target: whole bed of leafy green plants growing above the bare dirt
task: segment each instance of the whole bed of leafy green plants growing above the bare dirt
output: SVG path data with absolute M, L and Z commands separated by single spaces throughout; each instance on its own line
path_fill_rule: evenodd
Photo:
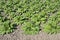
M 60 32 L 60 0 L 0 0 L 0 34 L 16 25 L 25 34 Z

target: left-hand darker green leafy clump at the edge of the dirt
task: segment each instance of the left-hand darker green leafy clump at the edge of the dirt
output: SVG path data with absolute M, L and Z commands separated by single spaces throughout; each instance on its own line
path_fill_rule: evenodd
M 13 32 L 13 30 L 13 24 L 11 24 L 9 20 L 3 20 L 2 17 L 0 17 L 0 34 L 7 34 Z

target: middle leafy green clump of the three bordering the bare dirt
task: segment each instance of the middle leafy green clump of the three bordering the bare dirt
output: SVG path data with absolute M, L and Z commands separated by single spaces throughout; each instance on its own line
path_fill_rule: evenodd
M 33 34 L 34 35 L 39 32 L 39 25 L 34 25 L 31 22 L 25 22 L 22 26 L 23 26 L 22 30 L 24 30 L 25 34 Z

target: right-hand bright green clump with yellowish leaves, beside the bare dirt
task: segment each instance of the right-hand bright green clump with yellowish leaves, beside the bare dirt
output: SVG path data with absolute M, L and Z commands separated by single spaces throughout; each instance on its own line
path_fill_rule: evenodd
M 43 30 L 51 34 L 60 32 L 60 12 L 49 17 L 47 23 L 44 24 Z

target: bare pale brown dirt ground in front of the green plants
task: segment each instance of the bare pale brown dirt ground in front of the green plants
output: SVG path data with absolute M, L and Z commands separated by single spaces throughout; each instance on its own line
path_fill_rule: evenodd
M 23 31 L 18 26 L 17 30 L 15 30 L 13 33 L 0 35 L 0 40 L 60 40 L 60 33 L 50 35 L 40 32 L 36 35 L 25 35 L 22 32 Z

